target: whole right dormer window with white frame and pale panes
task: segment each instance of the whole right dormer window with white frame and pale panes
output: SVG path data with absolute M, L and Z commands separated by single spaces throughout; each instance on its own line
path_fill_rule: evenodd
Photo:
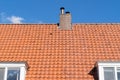
M 98 62 L 99 80 L 120 80 L 120 62 Z

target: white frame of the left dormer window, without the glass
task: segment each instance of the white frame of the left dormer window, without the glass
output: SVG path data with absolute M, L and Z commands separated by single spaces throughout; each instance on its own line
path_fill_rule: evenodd
M 25 62 L 0 62 L 0 68 L 5 69 L 4 80 L 7 80 L 8 68 L 20 68 L 20 80 L 25 80 L 27 64 Z

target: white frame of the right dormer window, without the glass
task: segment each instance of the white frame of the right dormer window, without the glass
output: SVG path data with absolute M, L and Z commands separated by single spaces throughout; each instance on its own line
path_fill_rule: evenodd
M 97 62 L 99 80 L 104 80 L 104 67 L 113 67 L 115 69 L 115 79 L 117 80 L 117 68 L 120 68 L 120 62 Z

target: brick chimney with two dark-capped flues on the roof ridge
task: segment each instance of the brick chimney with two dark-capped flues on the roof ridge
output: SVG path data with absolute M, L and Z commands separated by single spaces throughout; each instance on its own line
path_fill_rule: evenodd
M 64 7 L 61 7 L 60 10 L 61 10 L 61 14 L 60 14 L 59 28 L 61 30 L 71 30 L 72 29 L 72 23 L 71 23 L 70 12 L 64 13 Z

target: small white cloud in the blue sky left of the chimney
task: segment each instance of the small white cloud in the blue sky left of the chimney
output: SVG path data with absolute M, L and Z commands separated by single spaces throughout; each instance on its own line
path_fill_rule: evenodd
M 24 18 L 19 16 L 11 16 L 11 17 L 7 17 L 6 19 L 13 24 L 21 24 L 23 23 L 22 21 L 24 20 Z

